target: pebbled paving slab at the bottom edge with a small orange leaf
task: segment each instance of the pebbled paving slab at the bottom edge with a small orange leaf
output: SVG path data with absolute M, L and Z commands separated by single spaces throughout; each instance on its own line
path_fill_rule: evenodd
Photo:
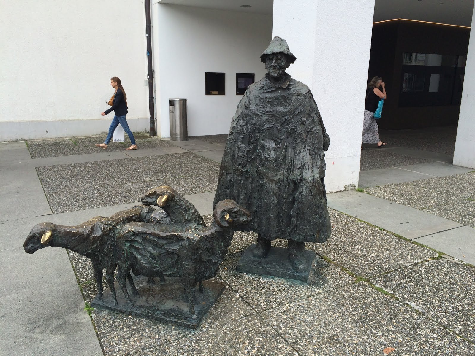
M 470 355 L 473 345 L 366 283 L 261 313 L 298 355 Z

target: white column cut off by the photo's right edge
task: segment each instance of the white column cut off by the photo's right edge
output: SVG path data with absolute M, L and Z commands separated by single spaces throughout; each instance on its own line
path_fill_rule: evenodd
M 475 11 L 472 25 L 475 24 Z M 475 168 L 475 31 L 470 31 L 462 103 L 458 115 L 454 164 Z

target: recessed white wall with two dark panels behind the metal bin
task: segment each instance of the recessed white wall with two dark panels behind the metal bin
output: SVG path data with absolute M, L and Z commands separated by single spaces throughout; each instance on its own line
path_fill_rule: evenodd
M 159 135 L 170 137 L 173 97 L 188 99 L 189 136 L 228 133 L 242 98 L 236 73 L 255 73 L 256 81 L 266 74 L 260 55 L 271 40 L 272 16 L 155 3 L 153 18 Z M 205 95 L 205 72 L 226 73 L 226 95 Z

